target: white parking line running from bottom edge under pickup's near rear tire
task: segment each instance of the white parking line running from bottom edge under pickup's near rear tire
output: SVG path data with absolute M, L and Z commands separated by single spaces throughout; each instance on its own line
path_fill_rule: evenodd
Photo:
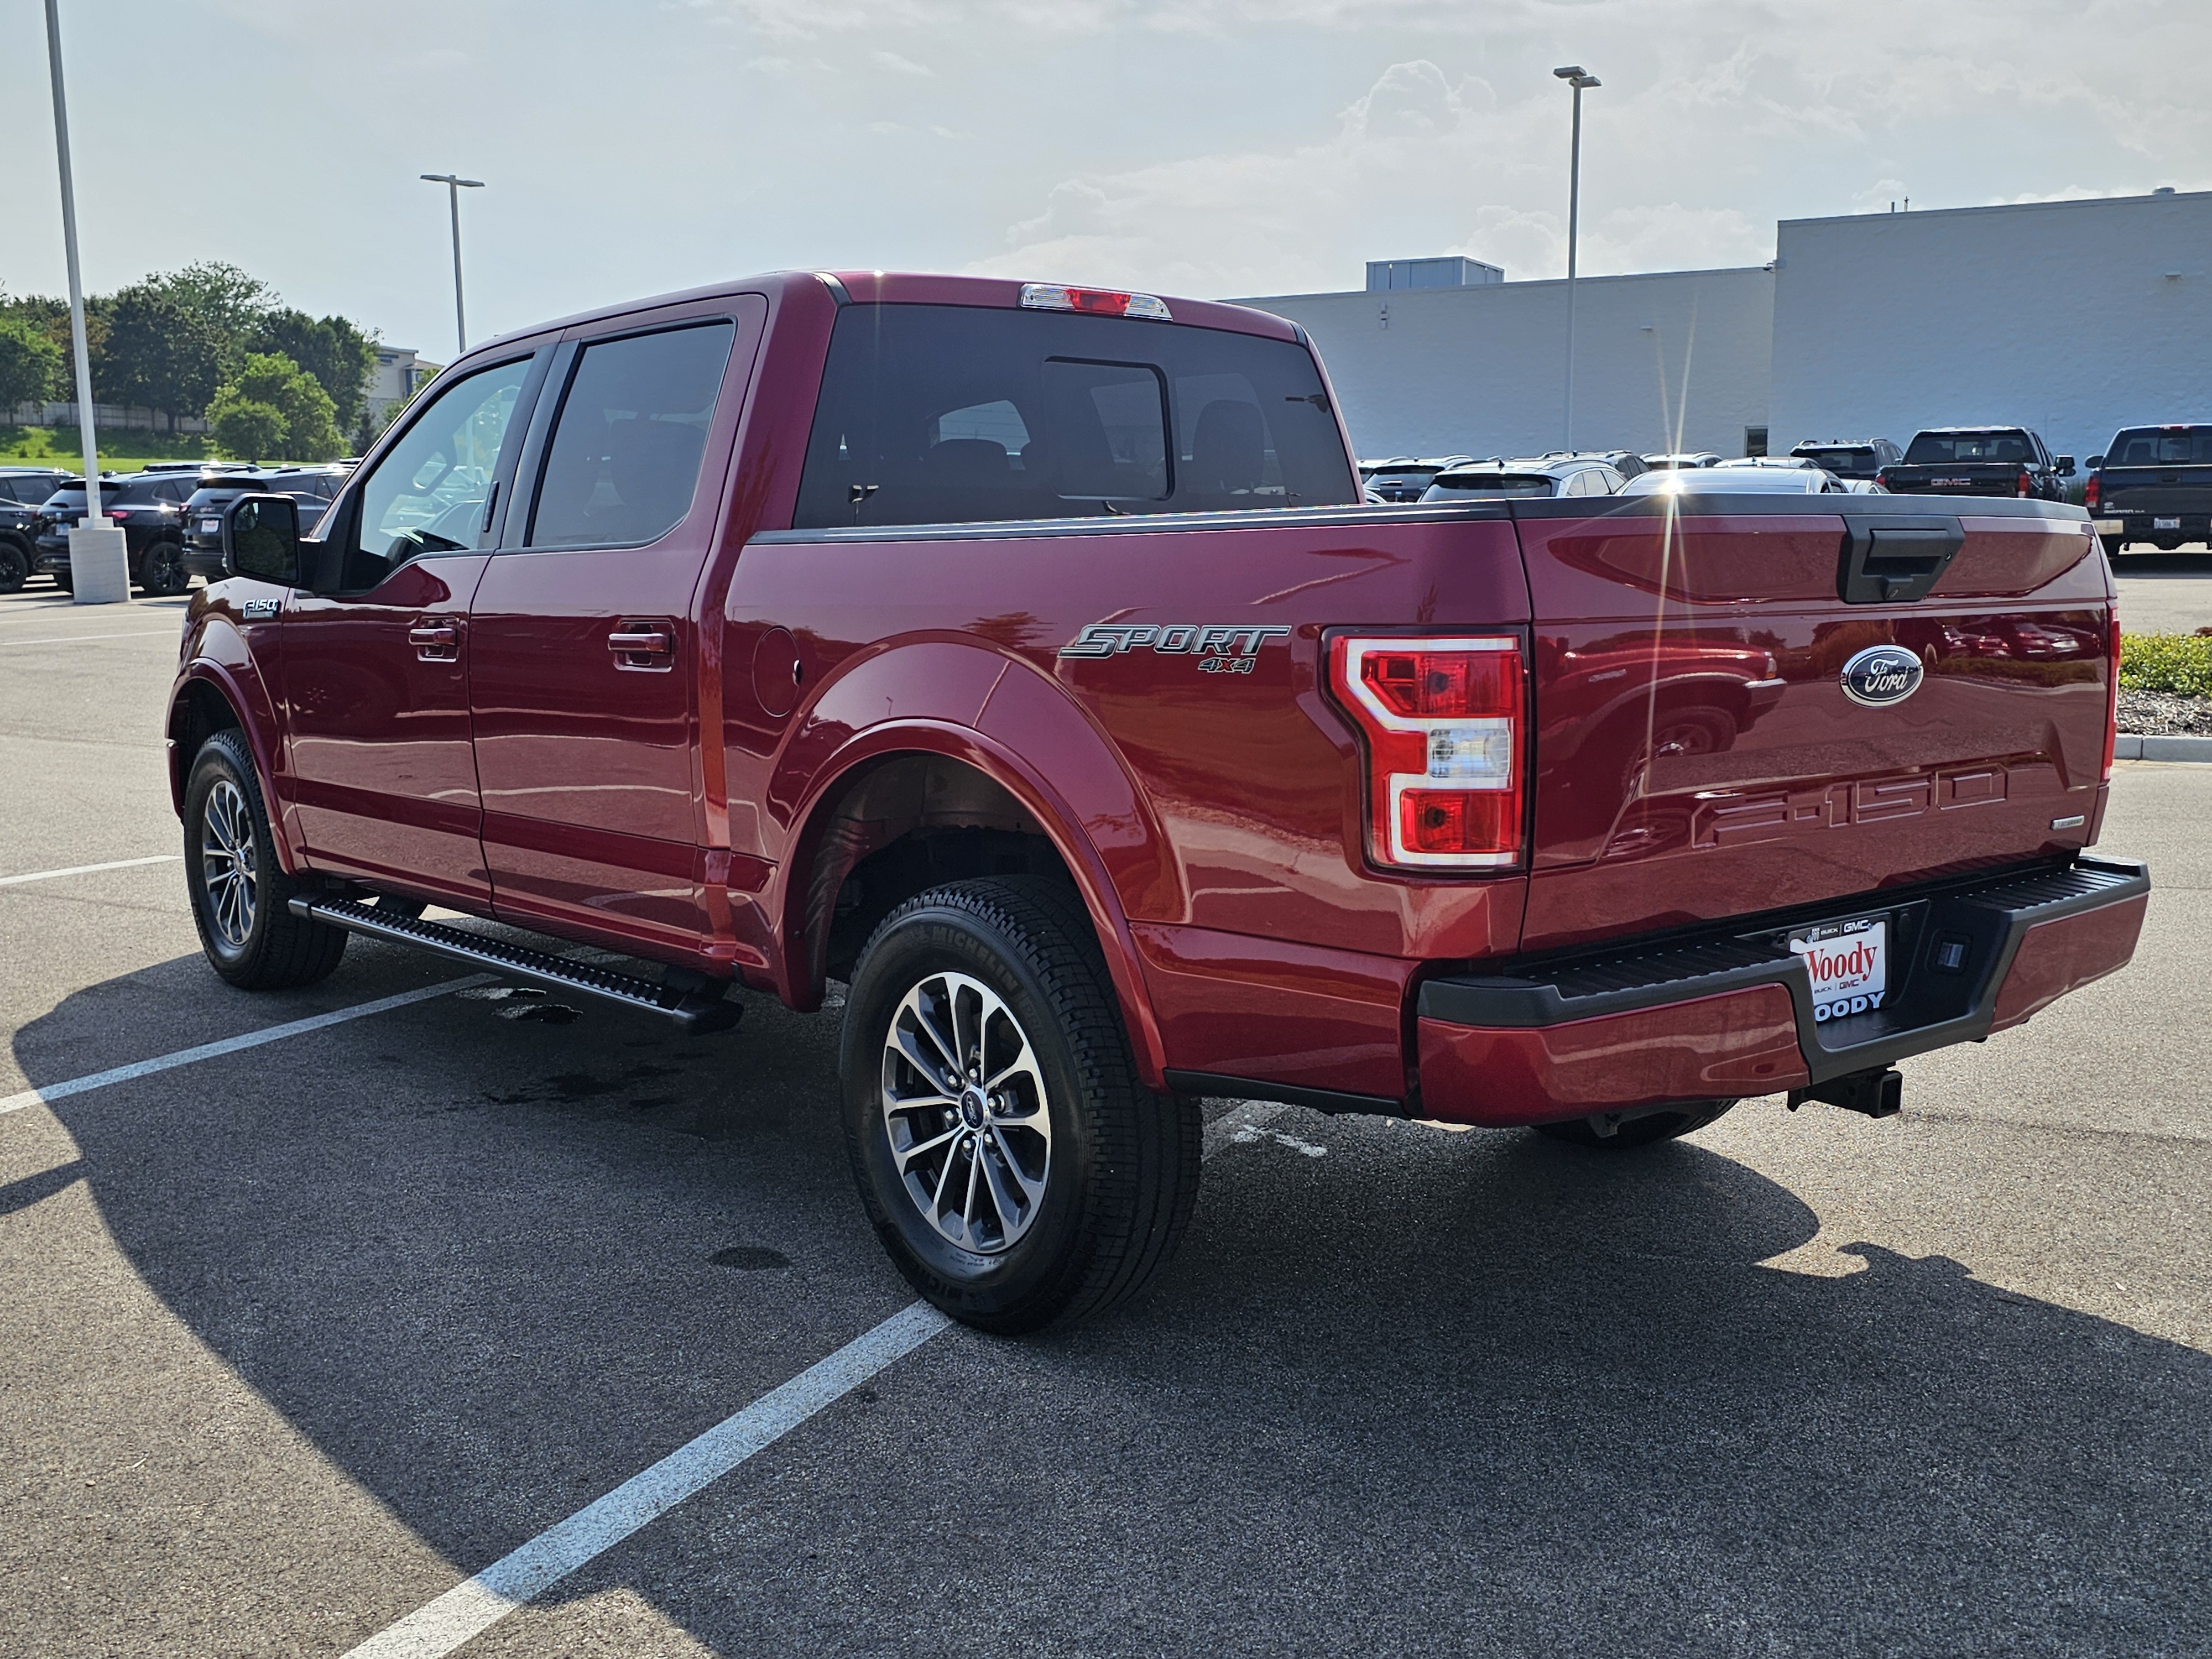
M 1223 1146 L 1239 1146 L 1239 1133 L 1256 1130 L 1285 1108 L 1276 1102 L 1252 1102 L 1206 1126 L 1206 1150 L 1212 1157 Z M 595 1555 L 613 1548 L 637 1528 L 659 1520 L 686 1498 L 712 1486 L 745 1458 L 787 1436 L 823 1407 L 834 1405 L 876 1371 L 902 1360 L 953 1323 L 929 1303 L 907 1303 L 876 1329 L 845 1343 L 836 1354 L 790 1383 L 770 1389 L 743 1411 L 723 1418 L 639 1475 L 630 1475 L 606 1498 L 586 1504 L 522 1548 L 502 1555 L 471 1579 L 462 1579 L 398 1624 L 385 1626 L 345 1659 L 445 1659 L 465 1641 L 473 1641 L 533 1595 L 575 1573 Z

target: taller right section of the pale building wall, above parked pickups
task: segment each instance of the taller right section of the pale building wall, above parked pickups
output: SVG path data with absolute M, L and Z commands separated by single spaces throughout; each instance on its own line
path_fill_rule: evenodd
M 1785 219 L 1776 453 L 2026 425 L 2077 460 L 2212 420 L 2212 192 Z

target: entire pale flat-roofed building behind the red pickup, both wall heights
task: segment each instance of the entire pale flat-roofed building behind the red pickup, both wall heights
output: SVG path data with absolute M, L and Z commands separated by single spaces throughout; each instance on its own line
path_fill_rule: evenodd
M 1770 265 L 1575 283 L 1573 447 L 1785 453 L 2026 425 L 2086 458 L 2212 420 L 2212 192 L 1785 219 Z M 1568 442 L 1564 281 L 1391 259 L 1245 305 L 1314 336 L 1363 456 Z

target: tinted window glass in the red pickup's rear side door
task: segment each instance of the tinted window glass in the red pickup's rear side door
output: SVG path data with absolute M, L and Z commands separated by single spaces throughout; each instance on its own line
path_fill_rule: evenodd
M 690 511 L 732 323 L 586 345 L 562 398 L 529 546 L 644 546 Z

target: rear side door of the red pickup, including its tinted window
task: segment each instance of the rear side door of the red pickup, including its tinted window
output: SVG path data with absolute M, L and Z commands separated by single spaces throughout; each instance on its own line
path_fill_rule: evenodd
M 469 613 L 500 916 L 677 949 L 710 931 L 695 593 L 765 316 L 719 299 L 557 352 Z

